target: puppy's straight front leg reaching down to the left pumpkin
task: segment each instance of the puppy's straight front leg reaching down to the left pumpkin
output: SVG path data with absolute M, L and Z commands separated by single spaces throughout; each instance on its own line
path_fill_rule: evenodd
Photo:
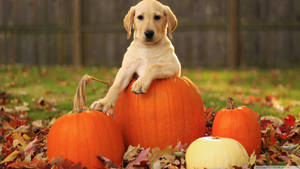
M 112 114 L 112 112 L 108 111 L 115 106 L 115 102 L 118 98 L 119 93 L 128 86 L 133 74 L 134 69 L 132 68 L 120 68 L 116 75 L 114 83 L 110 87 L 106 96 L 91 104 L 90 109 L 101 110 L 107 114 Z

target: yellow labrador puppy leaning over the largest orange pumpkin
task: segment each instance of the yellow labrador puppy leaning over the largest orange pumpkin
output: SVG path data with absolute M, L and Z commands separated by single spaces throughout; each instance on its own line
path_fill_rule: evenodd
M 131 7 L 124 18 L 127 39 L 131 37 L 132 26 L 133 41 L 114 83 L 104 98 L 90 106 L 91 109 L 111 114 L 119 93 L 128 86 L 134 74 L 138 75 L 138 79 L 131 90 L 136 94 L 146 93 L 154 79 L 180 76 L 181 66 L 169 40 L 177 26 L 177 19 L 170 8 L 156 0 L 142 0 Z

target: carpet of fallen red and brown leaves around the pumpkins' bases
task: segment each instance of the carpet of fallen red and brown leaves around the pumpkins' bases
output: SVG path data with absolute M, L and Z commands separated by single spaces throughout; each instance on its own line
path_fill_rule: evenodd
M 9 100 L 9 99 L 8 99 Z M 211 133 L 213 114 L 209 111 L 207 135 Z M 1 168 L 84 168 L 80 163 L 72 163 L 66 159 L 57 158 L 50 163 L 47 158 L 47 134 L 55 119 L 34 120 L 28 117 L 26 111 L 0 111 L 0 167 Z M 300 165 L 300 121 L 288 115 L 284 119 L 274 116 L 260 118 L 262 134 L 262 151 L 258 156 L 252 156 L 249 164 L 253 165 Z M 142 168 L 169 168 L 184 169 L 185 151 L 187 145 L 178 144 L 175 147 L 149 149 L 147 147 L 128 147 L 124 154 L 123 167 L 133 169 Z M 108 159 L 99 156 L 108 168 L 121 168 Z

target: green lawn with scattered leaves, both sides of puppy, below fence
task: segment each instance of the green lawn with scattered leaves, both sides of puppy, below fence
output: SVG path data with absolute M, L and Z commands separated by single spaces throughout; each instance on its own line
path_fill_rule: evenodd
M 2 66 L 0 92 L 10 94 L 2 106 L 15 108 L 26 102 L 32 119 L 58 117 L 72 109 L 73 95 L 82 75 L 87 73 L 112 82 L 116 72 L 116 68 L 103 67 Z M 199 87 L 205 107 L 214 111 L 225 107 L 226 97 L 232 96 L 239 105 L 247 105 L 261 115 L 292 114 L 300 118 L 300 69 L 184 69 L 182 75 Z M 103 97 L 106 91 L 106 85 L 92 83 L 87 88 L 88 104 Z M 46 106 L 39 106 L 41 100 Z

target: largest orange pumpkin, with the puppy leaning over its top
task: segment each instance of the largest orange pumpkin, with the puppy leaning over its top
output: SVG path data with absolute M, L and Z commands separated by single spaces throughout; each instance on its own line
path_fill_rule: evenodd
M 145 94 L 132 93 L 133 83 L 119 95 L 115 106 L 126 146 L 164 148 L 204 136 L 202 99 L 189 79 L 154 80 Z

